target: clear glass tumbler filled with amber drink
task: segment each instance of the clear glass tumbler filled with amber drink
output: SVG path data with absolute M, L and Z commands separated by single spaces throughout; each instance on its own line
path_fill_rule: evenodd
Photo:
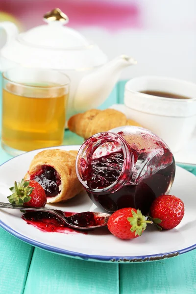
M 68 77 L 57 71 L 14 68 L 3 73 L 2 147 L 17 155 L 63 142 Z

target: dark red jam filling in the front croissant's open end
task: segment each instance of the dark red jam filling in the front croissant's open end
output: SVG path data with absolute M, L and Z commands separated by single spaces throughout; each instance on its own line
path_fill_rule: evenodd
M 37 172 L 31 174 L 31 180 L 38 182 L 45 190 L 47 197 L 57 196 L 61 191 L 61 179 L 58 172 L 51 166 L 43 165 Z

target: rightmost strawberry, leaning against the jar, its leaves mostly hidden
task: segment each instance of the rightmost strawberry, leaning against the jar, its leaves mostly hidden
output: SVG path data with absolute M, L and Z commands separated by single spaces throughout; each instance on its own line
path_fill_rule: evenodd
M 180 198 L 161 195 L 152 202 L 148 220 L 153 221 L 159 229 L 170 230 L 182 221 L 183 216 L 184 203 Z

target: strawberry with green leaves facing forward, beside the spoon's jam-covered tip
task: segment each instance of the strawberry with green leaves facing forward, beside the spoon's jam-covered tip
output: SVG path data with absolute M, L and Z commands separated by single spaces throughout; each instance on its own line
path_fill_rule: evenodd
M 107 222 L 109 231 L 124 240 L 134 239 L 142 235 L 147 227 L 145 216 L 135 208 L 122 208 L 114 212 Z

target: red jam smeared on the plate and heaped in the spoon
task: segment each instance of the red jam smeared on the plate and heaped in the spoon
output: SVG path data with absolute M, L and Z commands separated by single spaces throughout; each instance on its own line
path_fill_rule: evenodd
M 104 223 L 104 217 L 96 217 L 92 212 L 83 212 L 79 215 L 75 215 L 73 212 L 63 212 L 61 210 L 56 210 L 61 213 L 63 216 L 72 218 L 69 219 L 70 223 L 74 225 L 78 225 L 81 227 L 85 226 L 95 226 Z M 56 217 L 53 214 L 47 212 L 26 212 L 22 216 L 23 220 L 27 222 L 27 224 L 31 224 L 41 231 L 44 232 L 57 232 L 57 233 L 74 233 L 79 232 L 78 229 L 72 229 L 67 226 L 62 220 Z M 81 231 L 81 230 L 80 230 Z

